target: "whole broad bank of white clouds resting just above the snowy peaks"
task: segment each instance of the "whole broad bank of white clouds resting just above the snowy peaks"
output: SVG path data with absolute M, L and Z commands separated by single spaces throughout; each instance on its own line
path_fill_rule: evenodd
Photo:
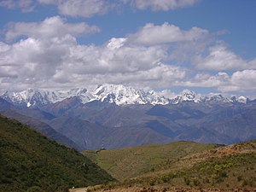
M 98 31 L 96 26 L 68 23 L 60 16 L 9 25 L 6 39 L 18 40 L 0 42 L 1 88 L 61 89 L 112 83 L 150 88 L 208 87 L 223 92 L 256 90 L 256 59 L 243 60 L 207 30 L 146 24 L 105 44 L 78 43 L 80 35 Z

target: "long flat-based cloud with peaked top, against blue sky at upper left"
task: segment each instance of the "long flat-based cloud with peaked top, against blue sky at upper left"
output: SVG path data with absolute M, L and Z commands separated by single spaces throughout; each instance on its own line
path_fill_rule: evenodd
M 70 34 L 74 37 L 78 35 L 99 32 L 97 26 L 89 26 L 84 22 L 67 23 L 60 16 L 46 18 L 42 22 L 18 22 L 10 23 L 5 33 L 7 40 L 11 40 L 22 35 L 32 38 L 55 38 L 64 37 Z

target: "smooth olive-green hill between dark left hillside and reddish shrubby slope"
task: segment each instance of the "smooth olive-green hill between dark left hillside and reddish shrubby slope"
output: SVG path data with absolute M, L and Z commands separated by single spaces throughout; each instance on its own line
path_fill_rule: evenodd
M 177 142 L 167 145 L 151 144 L 135 148 L 84 151 L 87 157 L 120 181 L 141 176 L 159 170 L 161 164 L 176 161 L 188 154 L 194 154 L 210 148 L 215 144 Z

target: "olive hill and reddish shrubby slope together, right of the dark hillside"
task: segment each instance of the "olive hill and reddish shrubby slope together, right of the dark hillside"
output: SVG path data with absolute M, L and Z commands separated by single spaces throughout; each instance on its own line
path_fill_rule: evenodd
M 121 183 L 112 187 L 256 187 L 256 140 L 229 146 L 178 142 L 84 154 L 113 177 L 121 178 Z

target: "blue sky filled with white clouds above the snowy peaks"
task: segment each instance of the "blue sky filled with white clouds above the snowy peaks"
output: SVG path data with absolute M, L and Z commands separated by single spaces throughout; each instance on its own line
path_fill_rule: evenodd
M 255 0 L 0 0 L 0 91 L 96 84 L 256 98 Z

